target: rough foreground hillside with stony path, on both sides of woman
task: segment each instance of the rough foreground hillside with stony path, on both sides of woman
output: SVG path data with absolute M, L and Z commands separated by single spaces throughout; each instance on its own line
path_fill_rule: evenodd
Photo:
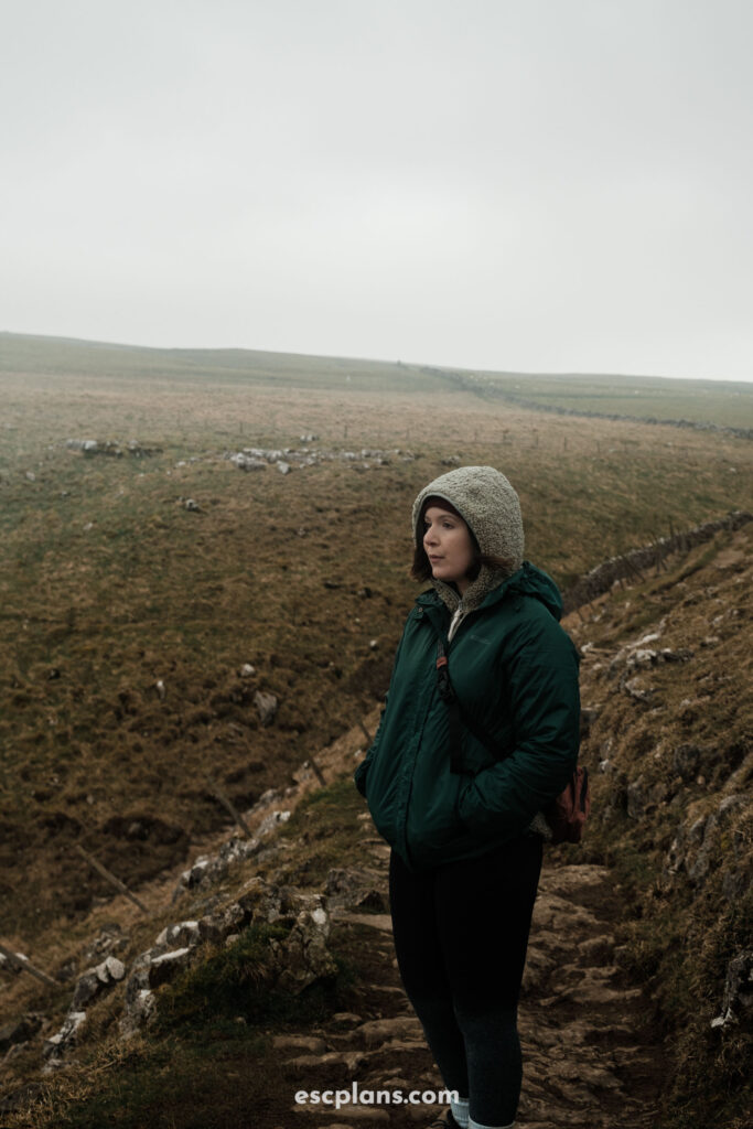
M 548 857 L 523 1009 L 520 1129 L 746 1124 L 752 540 L 751 524 L 720 531 L 657 575 L 618 583 L 568 622 L 584 654 L 594 816 L 581 848 Z M 80 978 L 93 952 L 102 954 L 94 943 L 108 924 L 108 951 L 133 982 L 137 957 L 170 921 L 227 926 L 186 947 L 186 972 L 155 982 L 154 1018 L 125 1042 L 128 989 L 111 986 L 87 1012 L 65 1068 L 32 1091 L 30 1109 L 23 1087 L 38 1086 L 42 1041 L 60 1030 L 71 981 L 53 990 L 0 971 L 3 1010 L 27 1031 L 2 1064 L 17 1095 L 3 1129 L 417 1123 L 415 1110 L 397 1108 L 292 1113 L 298 1088 L 438 1085 L 395 979 L 385 849 L 364 833 L 368 815 L 349 779 L 358 741 L 353 730 L 322 754 L 326 788 L 304 768 L 295 788 L 266 797 L 253 815 L 256 846 L 226 849 L 233 865 L 193 891 L 184 883 L 174 907 L 176 872 L 145 893 L 146 918 L 115 899 L 63 944 L 41 942 L 38 963 Z M 262 834 L 261 820 L 307 791 L 287 822 L 273 817 Z M 254 916 L 262 889 L 278 891 L 282 909 L 265 919 L 278 933 Z M 315 905 L 329 918 L 335 963 L 322 956 L 291 996 L 300 963 L 283 903 L 303 912 L 307 898 L 309 912 Z M 287 972 L 274 964 L 281 952 Z M 284 998 L 275 995 L 281 982 Z M 430 1114 L 422 1111 L 426 1121 Z

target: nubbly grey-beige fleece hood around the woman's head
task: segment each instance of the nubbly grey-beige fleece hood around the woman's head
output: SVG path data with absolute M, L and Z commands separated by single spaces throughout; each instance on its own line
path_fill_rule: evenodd
M 419 520 L 427 498 L 448 501 L 472 531 L 481 552 L 506 561 L 505 567 L 482 564 L 479 576 L 466 588 L 463 606 L 466 610 L 478 607 L 492 588 L 523 564 L 523 518 L 518 496 L 505 475 L 493 466 L 458 466 L 440 474 L 421 490 L 413 502 L 417 545 L 422 540 Z M 459 596 L 453 587 L 441 580 L 431 583 L 450 610 L 457 607 Z

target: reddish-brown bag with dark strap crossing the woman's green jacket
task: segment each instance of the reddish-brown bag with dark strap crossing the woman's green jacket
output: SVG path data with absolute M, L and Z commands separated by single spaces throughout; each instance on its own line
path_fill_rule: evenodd
M 441 639 L 437 642 L 437 686 L 439 697 L 448 709 L 450 772 L 463 771 L 462 726 L 470 729 L 476 741 L 480 741 L 496 758 L 500 758 L 500 753 L 502 759 L 509 755 L 472 718 L 463 716 L 461 703 L 449 681 L 449 666 Z M 584 764 L 578 764 L 560 795 L 544 811 L 544 817 L 552 832 L 552 843 L 579 843 L 589 814 L 588 769 Z

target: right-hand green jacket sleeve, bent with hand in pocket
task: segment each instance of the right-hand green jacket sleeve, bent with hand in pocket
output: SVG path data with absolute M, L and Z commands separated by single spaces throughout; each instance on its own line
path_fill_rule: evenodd
M 519 629 L 508 667 L 514 747 L 463 788 L 459 814 L 481 839 L 510 839 L 562 791 L 578 759 L 578 653 L 555 620 Z

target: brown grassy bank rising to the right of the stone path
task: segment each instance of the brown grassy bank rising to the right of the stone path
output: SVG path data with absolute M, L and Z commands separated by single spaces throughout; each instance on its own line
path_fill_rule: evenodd
M 669 1035 L 677 1127 L 750 1112 L 752 544 L 751 524 L 720 533 L 569 621 L 595 777 L 585 856 L 615 877 L 620 960 Z

